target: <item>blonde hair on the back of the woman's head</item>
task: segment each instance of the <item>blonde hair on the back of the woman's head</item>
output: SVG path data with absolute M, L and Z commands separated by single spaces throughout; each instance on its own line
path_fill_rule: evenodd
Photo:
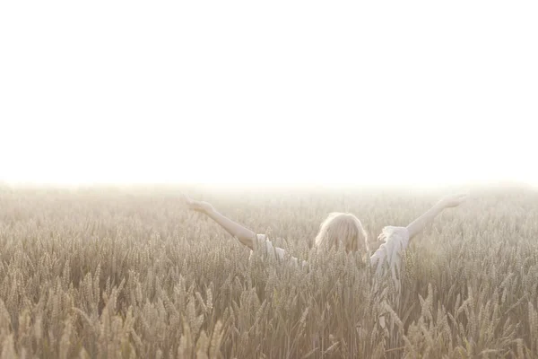
M 318 250 L 330 250 L 333 247 L 338 249 L 340 245 L 346 251 L 369 250 L 368 236 L 359 218 L 349 213 L 334 212 L 319 226 L 316 246 Z

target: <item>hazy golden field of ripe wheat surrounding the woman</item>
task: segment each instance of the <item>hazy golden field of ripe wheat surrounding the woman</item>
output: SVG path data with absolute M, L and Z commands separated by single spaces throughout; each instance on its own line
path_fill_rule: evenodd
M 249 258 L 177 188 L 0 187 L 0 357 L 538 357 L 538 193 L 478 188 L 439 215 L 399 300 L 362 258 L 310 250 L 329 212 L 376 237 L 446 193 L 189 189 L 297 268 Z

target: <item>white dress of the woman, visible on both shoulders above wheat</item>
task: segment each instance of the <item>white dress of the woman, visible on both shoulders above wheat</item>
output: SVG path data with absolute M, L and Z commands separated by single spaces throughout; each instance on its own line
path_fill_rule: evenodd
M 387 226 L 383 228 L 380 237 L 385 239 L 385 243 L 381 244 L 374 254 L 372 254 L 370 265 L 375 268 L 377 276 L 383 276 L 386 273 L 385 269 L 389 269 L 395 281 L 396 289 L 399 291 L 402 252 L 409 244 L 409 232 L 405 227 Z M 265 234 L 256 234 L 254 248 L 255 250 L 261 250 L 264 255 L 280 261 L 286 258 L 286 251 L 282 250 L 282 248 L 274 247 L 273 243 L 266 238 Z M 290 259 L 294 264 L 299 265 L 298 258 L 290 257 Z M 303 266 L 307 264 L 307 261 L 302 261 Z

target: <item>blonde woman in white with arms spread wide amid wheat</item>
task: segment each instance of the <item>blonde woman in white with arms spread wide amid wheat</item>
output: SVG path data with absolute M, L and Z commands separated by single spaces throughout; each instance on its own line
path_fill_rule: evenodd
M 396 289 L 400 289 L 400 264 L 402 262 L 402 252 L 407 248 L 412 238 L 423 231 L 424 227 L 433 221 L 444 209 L 459 206 L 467 198 L 466 195 L 447 196 L 442 198 L 429 211 L 421 215 L 406 227 L 388 226 L 383 229 L 378 237 L 378 241 L 383 244 L 369 257 L 369 263 L 376 269 L 378 276 L 386 273 L 388 268 L 391 276 L 395 280 Z M 231 221 L 221 215 L 211 204 L 202 201 L 195 201 L 184 196 L 187 206 L 194 211 L 201 212 L 209 216 L 222 228 L 237 238 L 250 250 L 264 250 L 274 258 L 283 260 L 285 250 L 274 247 L 265 234 L 256 234 L 239 223 Z M 369 251 L 368 237 L 362 223 L 355 216 L 349 213 L 332 213 L 328 215 L 319 228 L 316 236 L 317 250 L 333 250 L 343 246 L 347 252 L 358 251 L 366 254 Z M 299 260 L 291 257 L 291 260 L 298 263 Z M 307 262 L 303 261 L 303 265 Z

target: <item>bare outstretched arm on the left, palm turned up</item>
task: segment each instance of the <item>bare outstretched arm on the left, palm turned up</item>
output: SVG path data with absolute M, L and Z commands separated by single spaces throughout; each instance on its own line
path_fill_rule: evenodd
M 233 237 L 237 238 L 242 244 L 246 245 L 251 250 L 254 249 L 254 239 L 256 233 L 252 232 L 248 228 L 245 228 L 239 223 L 235 223 L 230 218 L 221 215 L 211 204 L 202 201 L 195 201 L 194 199 L 183 195 L 183 199 L 187 206 L 193 211 L 203 213 L 207 215 L 216 223 L 219 223 L 222 228 L 229 232 Z

